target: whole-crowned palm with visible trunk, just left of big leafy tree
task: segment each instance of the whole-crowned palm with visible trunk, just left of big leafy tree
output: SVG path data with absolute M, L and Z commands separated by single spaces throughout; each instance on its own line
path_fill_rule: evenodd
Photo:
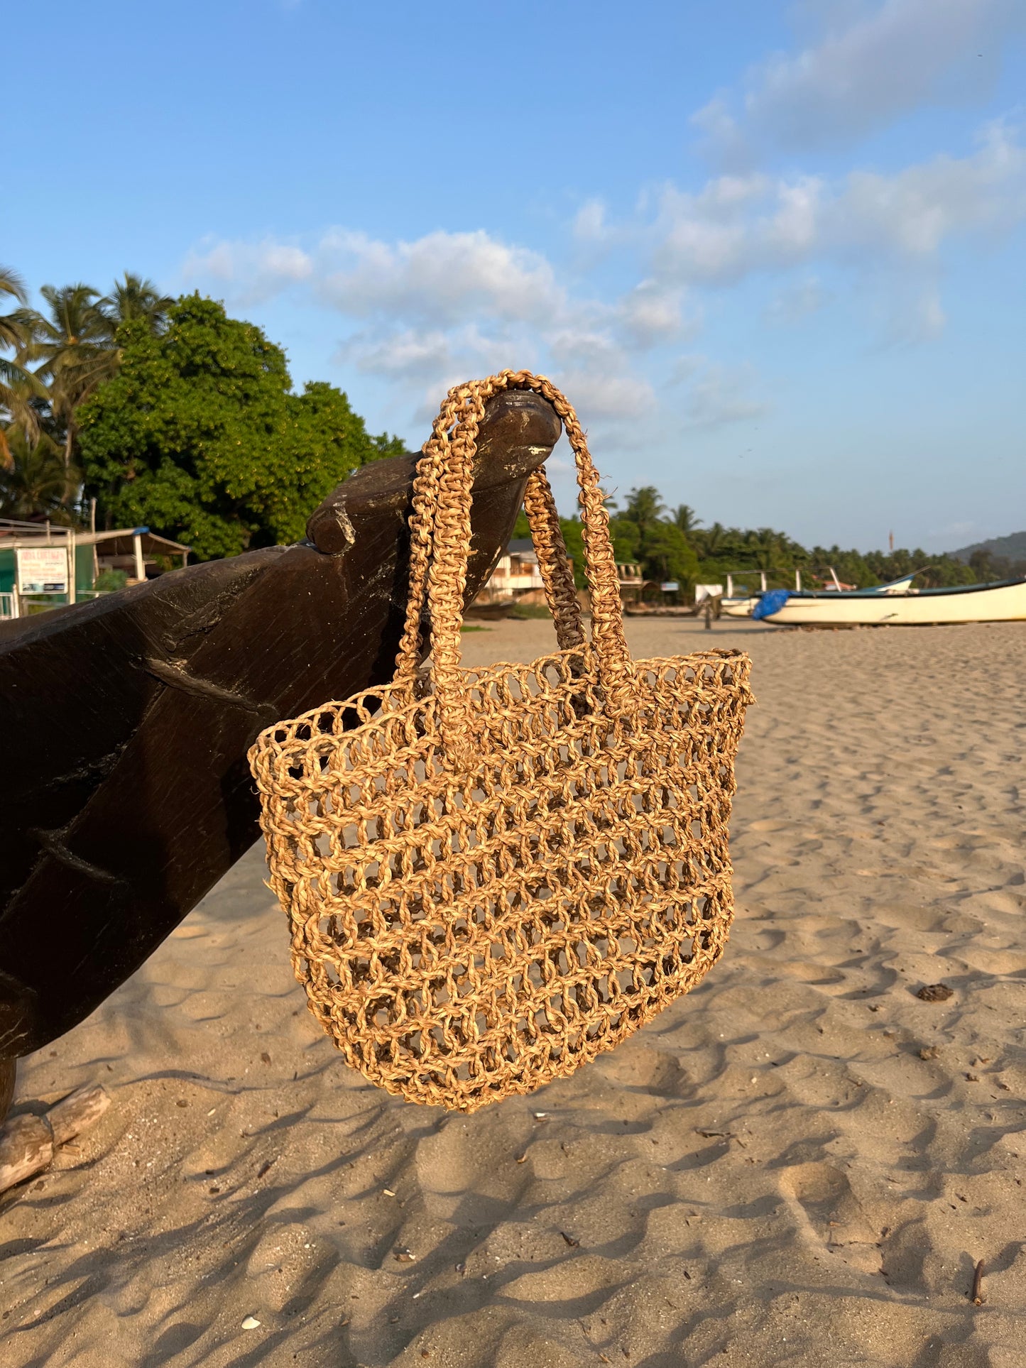
M 64 465 L 71 469 L 78 425 L 75 409 L 118 369 L 111 321 L 89 285 L 44 285 L 49 315 L 37 315 L 26 357 L 41 361 L 36 375 L 49 382 L 49 405 L 64 432 Z

